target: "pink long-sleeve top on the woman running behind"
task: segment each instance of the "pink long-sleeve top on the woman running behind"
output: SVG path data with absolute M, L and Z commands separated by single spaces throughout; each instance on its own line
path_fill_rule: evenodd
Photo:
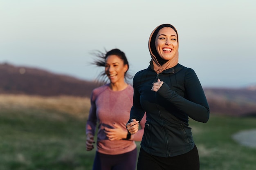
M 97 124 L 97 151 L 108 155 L 118 155 L 130 152 L 136 148 L 135 141 L 141 141 L 146 122 L 146 114 L 140 121 L 140 130 L 131 135 L 130 140 L 110 141 L 104 133 L 104 128 L 114 128 L 117 124 L 126 130 L 126 123 L 130 118 L 133 103 L 133 88 L 122 91 L 112 91 L 108 84 L 95 88 L 91 95 L 91 108 L 86 124 L 86 134 L 95 135 Z

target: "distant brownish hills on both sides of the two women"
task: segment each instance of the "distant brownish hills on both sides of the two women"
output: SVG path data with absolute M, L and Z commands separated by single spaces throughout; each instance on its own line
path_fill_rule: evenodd
M 96 82 L 54 74 L 38 68 L 0 64 L 0 94 L 90 97 Z M 204 88 L 211 114 L 256 116 L 256 86 Z

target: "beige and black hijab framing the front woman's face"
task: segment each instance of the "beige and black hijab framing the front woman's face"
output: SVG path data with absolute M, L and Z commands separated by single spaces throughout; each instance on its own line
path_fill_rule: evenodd
M 178 64 L 178 60 L 179 60 L 179 51 L 178 51 L 178 49 L 179 49 L 179 39 L 177 38 L 178 46 L 177 46 L 177 49 L 175 49 L 171 59 L 168 60 L 166 63 L 164 63 L 162 66 L 157 61 L 157 57 L 155 55 L 159 55 L 159 54 L 157 53 L 157 51 L 155 49 L 155 45 L 154 45 L 155 44 L 155 38 L 156 38 L 156 35 L 159 32 L 159 30 L 164 28 L 164 27 L 171 27 L 177 33 L 177 30 L 175 29 L 175 27 L 173 25 L 171 25 L 171 24 L 161 24 L 161 25 L 157 26 L 152 31 L 152 33 L 150 34 L 149 40 L 148 40 L 148 49 L 149 49 L 149 52 L 150 52 L 150 55 L 151 55 L 151 58 L 152 58 L 153 69 L 154 69 L 155 72 L 157 72 L 157 74 L 162 73 L 164 70 L 166 70 L 168 68 L 172 68 L 172 67 L 176 66 Z M 178 33 L 177 33 L 177 36 L 178 36 Z M 151 45 L 150 45 L 150 42 L 151 42 Z M 151 49 L 151 48 L 154 48 L 154 49 Z

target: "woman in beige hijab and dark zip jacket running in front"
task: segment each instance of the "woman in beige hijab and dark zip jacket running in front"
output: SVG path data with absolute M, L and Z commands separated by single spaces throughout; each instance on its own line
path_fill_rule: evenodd
M 150 66 L 133 78 L 133 106 L 126 124 L 135 134 L 146 111 L 137 170 L 199 170 L 189 117 L 206 123 L 209 106 L 194 70 L 178 63 L 175 27 L 162 24 L 151 33 Z

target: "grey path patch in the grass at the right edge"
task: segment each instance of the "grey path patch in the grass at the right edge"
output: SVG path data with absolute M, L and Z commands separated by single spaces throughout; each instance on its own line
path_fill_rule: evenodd
M 241 145 L 256 148 L 256 129 L 243 130 L 234 134 L 232 137 Z

